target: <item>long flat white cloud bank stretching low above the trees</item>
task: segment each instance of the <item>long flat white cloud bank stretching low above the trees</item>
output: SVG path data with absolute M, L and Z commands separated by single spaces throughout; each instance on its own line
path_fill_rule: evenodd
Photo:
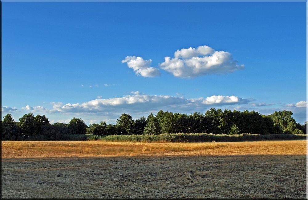
M 115 113 L 140 113 L 149 111 L 172 110 L 173 112 L 194 112 L 205 111 L 210 106 L 224 106 L 247 104 L 252 99 L 243 99 L 237 96 L 211 96 L 207 98 L 174 97 L 168 95 L 147 95 L 140 94 L 138 91 L 133 95 L 127 95 L 119 98 L 94 99 L 84 103 L 52 102 L 53 109 L 46 109 L 43 106 L 31 107 L 35 111 L 49 113 L 104 113 L 115 115 Z M 27 106 L 26 106 L 27 107 Z

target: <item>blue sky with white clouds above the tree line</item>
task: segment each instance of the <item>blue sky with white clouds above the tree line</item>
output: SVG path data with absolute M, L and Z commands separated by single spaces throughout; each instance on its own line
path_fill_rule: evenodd
M 2 3 L 2 116 L 16 121 L 215 107 L 303 124 L 303 101 L 306 2 Z

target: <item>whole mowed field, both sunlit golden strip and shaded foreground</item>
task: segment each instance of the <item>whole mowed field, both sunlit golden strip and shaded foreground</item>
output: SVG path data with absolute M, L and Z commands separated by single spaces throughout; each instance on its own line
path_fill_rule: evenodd
M 306 198 L 306 140 L 2 141 L 2 198 Z

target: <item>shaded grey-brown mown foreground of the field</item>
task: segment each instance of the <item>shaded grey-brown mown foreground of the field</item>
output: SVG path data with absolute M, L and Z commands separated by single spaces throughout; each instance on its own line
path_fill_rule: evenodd
M 305 198 L 306 155 L 2 159 L 3 198 Z

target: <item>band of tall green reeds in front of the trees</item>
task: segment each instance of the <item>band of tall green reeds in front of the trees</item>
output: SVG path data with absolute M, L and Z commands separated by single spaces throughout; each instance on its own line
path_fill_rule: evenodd
M 56 140 L 64 141 L 85 141 L 85 140 L 100 140 L 108 142 L 239 142 L 239 141 L 254 141 L 254 140 L 277 140 L 277 139 L 304 139 L 306 135 L 295 134 L 207 134 L 207 133 L 174 133 L 174 134 L 159 134 L 159 135 L 62 135 Z M 30 141 L 48 141 L 43 135 L 34 135 L 29 138 L 18 138 L 17 140 Z

